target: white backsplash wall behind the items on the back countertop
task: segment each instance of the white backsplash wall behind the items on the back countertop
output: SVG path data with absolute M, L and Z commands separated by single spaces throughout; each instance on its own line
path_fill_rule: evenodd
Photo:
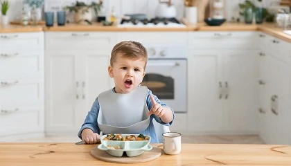
M 85 3 L 91 3 L 94 0 L 78 0 Z M 120 17 L 127 13 L 145 13 L 148 17 L 155 17 L 155 8 L 157 7 L 159 0 L 103 0 L 105 6 L 106 15 L 109 16 L 112 8 L 117 17 Z M 184 1 L 172 0 L 177 10 L 177 19 L 184 17 Z M 238 17 L 238 3 L 242 3 L 245 0 L 226 0 L 227 1 L 227 20 L 231 20 L 231 17 Z M 252 0 L 257 1 L 257 0 Z M 76 0 L 45 0 L 44 10 L 61 10 L 62 7 L 71 5 Z M 274 3 L 279 3 L 280 0 L 263 0 L 264 6 L 270 6 Z M 19 19 L 22 10 L 22 0 L 10 1 L 11 7 L 8 10 L 10 20 Z

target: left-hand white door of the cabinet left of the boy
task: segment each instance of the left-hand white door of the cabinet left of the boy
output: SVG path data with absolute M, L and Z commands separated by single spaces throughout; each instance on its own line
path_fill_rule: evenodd
M 46 133 L 77 131 L 76 100 L 80 98 L 78 55 L 46 53 Z

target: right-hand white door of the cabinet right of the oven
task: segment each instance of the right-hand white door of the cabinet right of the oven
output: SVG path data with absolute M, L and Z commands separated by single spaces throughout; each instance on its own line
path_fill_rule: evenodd
M 256 51 L 224 51 L 223 77 L 226 88 L 226 108 L 229 115 L 229 129 L 236 132 L 258 131 L 256 111 Z

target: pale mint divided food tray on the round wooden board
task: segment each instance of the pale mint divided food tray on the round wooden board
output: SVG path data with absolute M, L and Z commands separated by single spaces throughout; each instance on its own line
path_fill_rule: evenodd
M 121 134 L 121 136 L 131 136 L 134 135 L 136 137 L 139 136 L 139 134 Z M 101 144 L 98 145 L 98 149 L 106 151 L 107 154 L 110 154 L 112 156 L 121 157 L 123 156 L 123 153 L 128 157 L 134 157 L 139 156 L 143 154 L 144 151 L 150 151 L 152 149 L 152 146 L 150 145 L 150 139 L 149 140 L 104 140 L 107 135 L 104 135 L 100 138 Z M 150 136 L 148 136 L 150 138 Z M 118 147 L 120 149 L 115 149 L 114 147 Z

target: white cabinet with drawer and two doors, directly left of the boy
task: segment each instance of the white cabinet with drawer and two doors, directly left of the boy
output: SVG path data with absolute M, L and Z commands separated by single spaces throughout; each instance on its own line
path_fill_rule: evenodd
M 98 94 L 113 87 L 107 72 L 113 36 L 46 33 L 47 135 L 78 133 Z M 55 44 L 59 39 L 62 42 Z

